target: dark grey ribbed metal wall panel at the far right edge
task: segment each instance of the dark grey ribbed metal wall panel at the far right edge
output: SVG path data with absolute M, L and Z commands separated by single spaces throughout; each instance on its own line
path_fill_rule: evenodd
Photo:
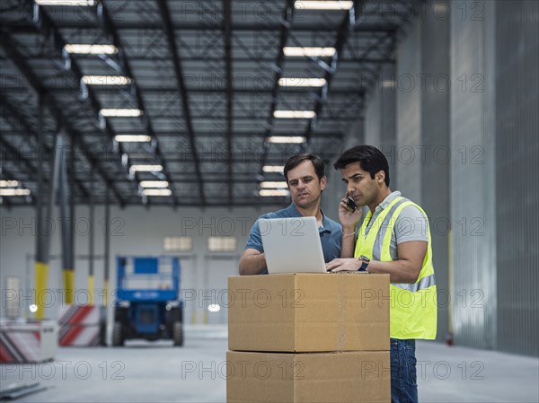
M 539 29 L 536 1 L 496 9 L 498 348 L 539 355 Z

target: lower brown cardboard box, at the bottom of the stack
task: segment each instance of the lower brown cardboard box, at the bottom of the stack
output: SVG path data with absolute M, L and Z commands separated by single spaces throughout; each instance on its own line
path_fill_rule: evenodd
M 389 351 L 226 353 L 226 401 L 389 402 Z

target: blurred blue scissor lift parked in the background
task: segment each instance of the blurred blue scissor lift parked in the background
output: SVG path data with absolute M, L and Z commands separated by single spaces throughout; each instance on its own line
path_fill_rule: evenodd
M 183 346 L 180 261 L 172 257 L 116 258 L 112 345 L 132 338 L 172 339 Z

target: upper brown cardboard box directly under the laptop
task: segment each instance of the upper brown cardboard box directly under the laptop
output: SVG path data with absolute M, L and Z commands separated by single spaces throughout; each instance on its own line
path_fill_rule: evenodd
M 228 348 L 389 350 L 389 275 L 228 277 Z

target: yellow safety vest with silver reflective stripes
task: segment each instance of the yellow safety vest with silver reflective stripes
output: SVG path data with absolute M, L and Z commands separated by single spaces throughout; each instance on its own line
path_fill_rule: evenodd
M 390 254 L 391 237 L 397 217 L 406 206 L 416 206 L 427 217 L 423 209 L 404 197 L 396 197 L 389 206 L 376 217 L 376 221 L 365 237 L 367 224 L 372 213 L 370 210 L 359 228 L 358 241 L 354 256 L 363 255 L 371 260 L 392 261 Z M 416 223 L 417 224 L 417 223 Z M 437 329 L 437 290 L 432 266 L 429 222 L 427 222 L 429 246 L 423 259 L 420 276 L 414 284 L 390 285 L 390 337 L 436 338 Z

